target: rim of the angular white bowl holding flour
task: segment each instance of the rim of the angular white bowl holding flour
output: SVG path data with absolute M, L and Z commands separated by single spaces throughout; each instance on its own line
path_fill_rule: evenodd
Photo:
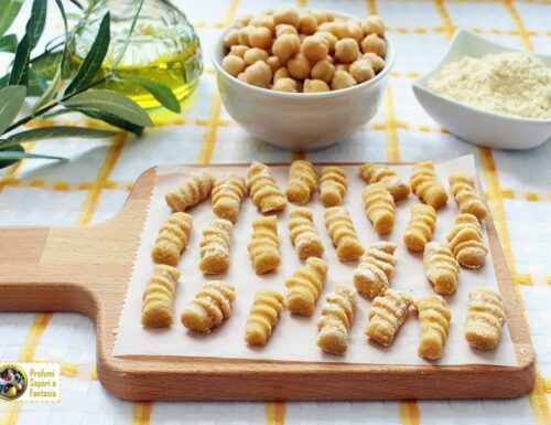
M 435 97 L 442 102 L 446 102 L 456 108 L 466 109 L 469 113 L 479 114 L 479 115 L 486 116 L 488 118 L 503 119 L 503 120 L 508 120 L 508 121 L 519 123 L 519 124 L 550 125 L 551 118 L 528 118 L 528 117 L 519 117 L 516 115 L 505 115 L 505 114 L 494 113 L 491 110 L 482 109 L 477 106 L 473 106 L 473 105 L 456 100 L 452 97 L 441 95 L 439 93 L 435 93 L 435 92 L 429 89 L 425 86 L 429 77 L 432 77 L 434 74 L 436 74 L 444 66 L 444 64 L 446 63 L 447 56 L 454 51 L 454 49 L 457 49 L 455 45 L 458 44 L 458 41 L 461 40 L 461 38 L 465 38 L 465 36 L 471 38 L 473 41 L 475 41 L 475 43 L 491 44 L 495 49 L 497 49 L 500 52 L 529 53 L 536 57 L 551 61 L 551 55 L 534 54 L 532 52 L 526 52 L 523 50 L 512 49 L 512 47 L 506 46 L 504 44 L 496 43 L 491 40 L 485 39 L 478 34 L 475 34 L 473 31 L 469 31 L 465 28 L 460 28 L 455 32 L 455 34 L 453 35 L 450 43 L 447 44 L 444 53 L 442 54 L 442 56 L 437 61 L 436 65 L 434 65 L 434 67 L 432 67 L 430 71 L 425 72 L 423 75 L 419 76 L 418 78 L 415 78 L 413 81 L 413 83 L 411 84 L 413 92 L 420 91 L 423 94 Z M 465 43 L 465 45 L 472 46 L 473 43 Z M 468 55 L 468 49 L 463 49 L 461 52 L 462 52 L 463 57 Z M 418 100 L 421 104 L 421 106 L 423 106 L 423 108 L 424 108 L 423 102 L 419 97 L 418 97 Z

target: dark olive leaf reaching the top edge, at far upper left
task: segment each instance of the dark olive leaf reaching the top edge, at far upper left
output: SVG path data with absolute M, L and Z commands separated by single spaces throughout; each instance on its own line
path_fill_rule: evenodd
M 36 46 L 46 23 L 47 0 L 34 0 L 31 17 L 26 21 L 25 35 L 15 51 L 9 85 L 29 84 L 29 63 L 31 51 Z

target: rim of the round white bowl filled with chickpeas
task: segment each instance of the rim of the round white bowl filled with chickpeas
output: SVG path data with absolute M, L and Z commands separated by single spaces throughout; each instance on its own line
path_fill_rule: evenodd
M 316 8 L 296 8 L 299 11 L 312 11 L 312 10 L 317 10 Z M 344 19 L 361 19 L 360 17 L 356 17 L 354 14 L 349 13 L 344 13 L 335 10 L 329 10 L 329 9 L 323 9 L 332 12 L 335 17 L 337 18 L 344 18 Z M 278 91 L 272 91 L 269 88 L 263 88 L 263 87 L 258 87 L 252 84 L 245 83 L 235 76 L 230 75 L 226 70 L 222 67 L 222 62 L 217 57 L 217 50 L 219 45 L 223 45 L 224 36 L 226 33 L 231 30 L 234 26 L 230 24 L 228 28 L 226 28 L 215 40 L 213 43 L 213 46 L 210 47 L 210 61 L 213 62 L 213 65 L 216 70 L 217 73 L 224 75 L 225 78 L 230 78 L 234 83 L 236 83 L 238 86 L 244 87 L 246 89 L 251 89 L 252 92 L 257 92 L 259 94 L 264 94 L 268 96 L 273 96 L 276 98 L 291 98 L 291 99 L 312 99 L 312 98 L 324 98 L 324 97 L 336 97 L 342 94 L 347 94 L 354 91 L 359 91 L 361 88 L 366 88 L 369 86 L 375 86 L 380 79 L 382 79 L 385 76 L 388 75 L 390 72 L 390 68 L 395 64 L 396 60 L 396 54 L 395 54 L 395 46 L 392 42 L 387 38 L 387 35 L 383 35 L 383 40 L 387 43 L 387 54 L 385 57 L 385 67 L 371 79 L 368 79 L 366 82 L 356 84 L 355 86 L 352 87 L 346 87 L 346 88 L 339 88 L 336 91 L 329 91 L 329 92 L 318 92 L 318 93 L 289 93 L 289 92 L 278 92 Z

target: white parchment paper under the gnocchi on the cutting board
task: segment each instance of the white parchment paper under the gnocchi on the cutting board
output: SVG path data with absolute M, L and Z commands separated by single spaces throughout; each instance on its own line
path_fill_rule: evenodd
M 246 176 L 247 167 L 205 167 L 217 178 L 231 170 Z M 356 167 L 344 167 L 348 173 L 348 192 L 345 195 L 344 205 L 350 211 L 356 231 L 364 246 L 367 248 L 379 236 L 372 230 L 371 223 L 365 216 L 360 191 L 365 187 Z M 403 179 L 409 180 L 411 166 L 392 167 Z M 272 167 L 276 180 L 284 190 L 289 168 L 287 166 Z M 436 166 L 436 171 L 447 188 L 447 177 L 454 171 L 469 171 L 475 173 L 473 157 L 463 157 Z M 156 173 L 155 188 L 151 198 L 151 205 L 143 229 L 141 245 L 139 246 L 136 266 L 131 280 L 128 285 L 125 306 L 120 317 L 119 328 L 116 337 L 114 355 L 177 355 L 177 357 L 208 357 L 208 358 L 236 358 L 236 359 L 263 359 L 283 361 L 310 361 L 310 362 L 349 362 L 349 363 L 378 363 L 378 364 L 426 364 L 426 360 L 418 357 L 419 321 L 414 312 L 410 314 L 389 348 L 381 348 L 377 343 L 367 340 L 364 334 L 367 325 L 367 314 L 371 302 L 359 297 L 358 310 L 355 316 L 350 332 L 348 350 L 345 355 L 333 355 L 323 353 L 316 346 L 317 320 L 325 295 L 336 284 L 352 283 L 352 275 L 357 262 L 341 263 L 336 258 L 333 243 L 323 224 L 324 208 L 316 193 L 307 204 L 314 212 L 314 223 L 317 227 L 325 246 L 324 258 L 329 263 L 327 280 L 324 291 L 316 305 L 316 312 L 311 318 L 294 317 L 284 310 L 273 334 L 264 348 L 250 348 L 244 342 L 245 322 L 252 302 L 255 293 L 260 288 L 278 289 L 285 294 L 284 281 L 302 264 L 299 261 L 293 246 L 289 240 L 288 217 L 294 204 L 279 214 L 278 232 L 280 238 L 280 253 L 282 264 L 276 273 L 257 276 L 251 268 L 248 257 L 247 244 L 251 234 L 251 221 L 260 216 L 257 208 L 250 199 L 246 199 L 239 221 L 234 227 L 231 244 L 231 265 L 227 274 L 218 276 L 204 276 L 198 269 L 202 230 L 213 219 L 209 200 L 190 209 L 187 212 L 194 217 L 194 227 L 187 248 L 182 255 L 180 269 L 182 277 L 179 283 L 176 298 L 174 301 L 174 323 L 170 329 L 150 330 L 140 325 L 142 291 L 144 284 L 153 269 L 150 258 L 151 248 L 158 235 L 158 231 L 170 215 L 170 209 L 164 201 L 164 193 L 177 184 L 186 172 L 191 171 L 185 166 L 162 166 Z M 320 173 L 321 167 L 316 168 Z M 402 243 L 403 230 L 409 221 L 409 206 L 419 202 L 412 194 L 408 200 L 397 204 L 397 220 L 390 236 L 398 243 L 396 257 L 398 265 L 396 274 L 391 279 L 391 287 L 396 289 L 411 290 L 415 297 L 433 294 L 432 286 L 423 274 L 422 255 L 410 253 Z M 452 226 L 453 219 L 457 213 L 457 205 L 450 193 L 447 206 L 439 210 L 434 241 L 445 241 L 445 234 Z M 485 243 L 487 234 L 484 232 Z M 197 334 L 186 330 L 180 322 L 180 314 L 193 299 L 194 295 L 208 279 L 226 280 L 236 285 L 237 299 L 234 302 L 234 315 L 220 327 L 207 336 Z M 512 341 L 507 326 L 504 328 L 501 342 L 494 351 L 482 351 L 472 349 L 465 341 L 464 322 L 467 309 L 468 290 L 477 286 L 489 286 L 497 289 L 496 275 L 491 256 L 488 255 L 486 264 L 479 270 L 468 270 L 462 267 L 460 273 L 460 285 L 455 295 L 446 296 L 446 301 L 452 310 L 452 323 L 445 353 L 435 364 L 499 364 L 516 365 L 517 359 Z

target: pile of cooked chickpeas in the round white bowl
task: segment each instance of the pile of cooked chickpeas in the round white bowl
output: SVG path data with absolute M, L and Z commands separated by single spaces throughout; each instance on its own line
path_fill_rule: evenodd
M 324 10 L 268 10 L 237 19 L 224 39 L 228 53 L 222 66 L 272 91 L 336 91 L 366 82 L 385 67 L 383 33 L 376 14 L 344 20 Z

